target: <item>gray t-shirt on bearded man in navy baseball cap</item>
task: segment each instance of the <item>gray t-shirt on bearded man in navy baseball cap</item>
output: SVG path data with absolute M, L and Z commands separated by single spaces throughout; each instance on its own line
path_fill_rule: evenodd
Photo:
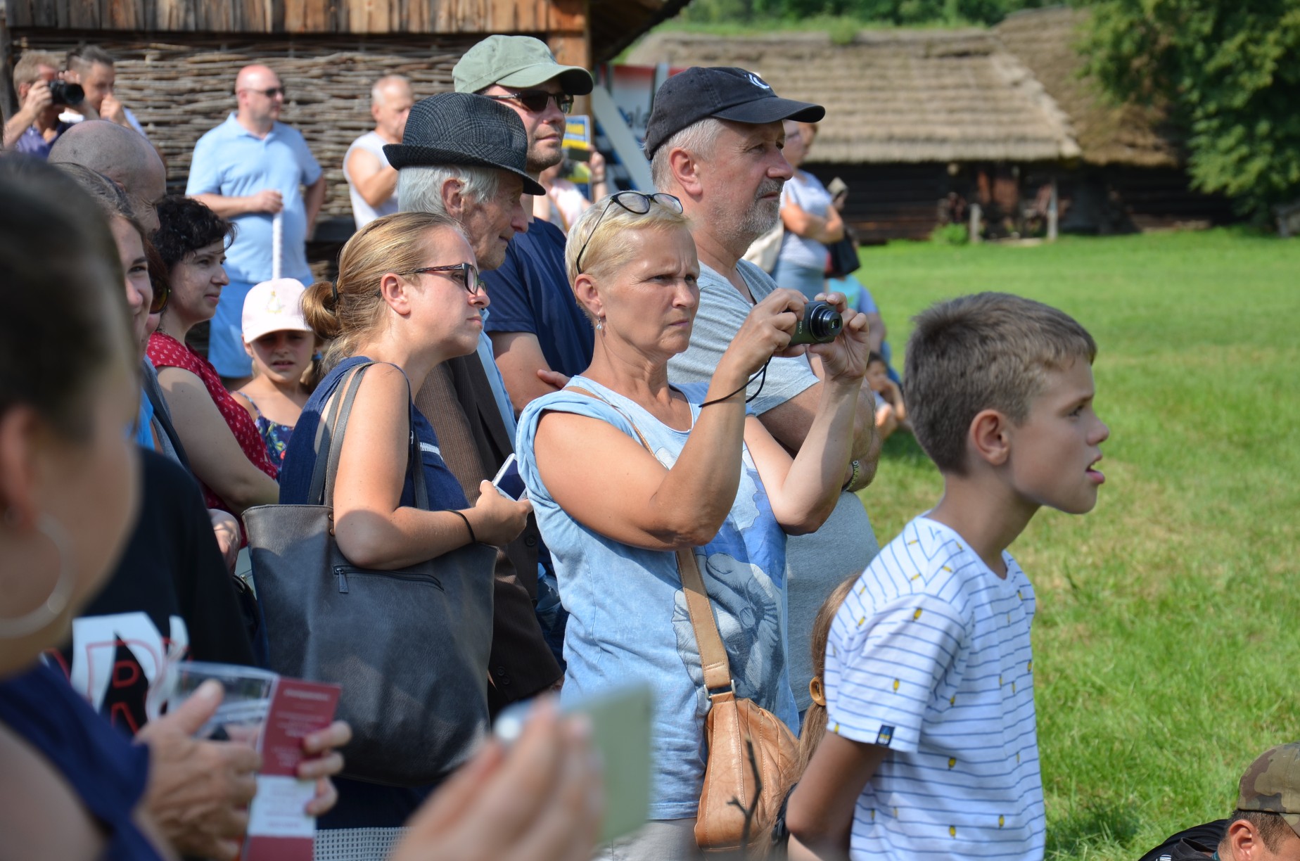
M 737 265 L 755 302 L 776 289 L 776 282 L 754 264 L 741 260 Z M 701 264 L 699 310 L 690 332 L 690 347 L 668 360 L 668 378 L 673 382 L 708 381 L 753 307 L 727 278 Z M 816 381 L 816 375 L 802 356 L 775 358 L 767 367 L 762 393 L 750 406 L 762 415 Z M 758 382 L 751 382 L 749 394 L 754 394 L 757 388 Z M 809 679 L 812 678 L 812 654 L 809 639 L 816 611 L 835 587 L 849 576 L 862 574 L 879 550 L 867 512 L 853 493 L 840 494 L 840 502 L 820 529 L 812 535 L 790 536 L 786 542 L 786 654 L 790 688 L 800 711 L 805 711 L 811 702 Z

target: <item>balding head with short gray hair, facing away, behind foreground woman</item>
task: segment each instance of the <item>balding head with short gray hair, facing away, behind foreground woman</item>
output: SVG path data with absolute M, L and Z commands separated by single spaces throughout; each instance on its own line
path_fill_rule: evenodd
M 100 120 L 78 122 L 55 140 L 49 161 L 103 173 L 126 191 L 140 225 L 150 233 L 159 229 L 166 169 L 153 146 L 133 129 Z

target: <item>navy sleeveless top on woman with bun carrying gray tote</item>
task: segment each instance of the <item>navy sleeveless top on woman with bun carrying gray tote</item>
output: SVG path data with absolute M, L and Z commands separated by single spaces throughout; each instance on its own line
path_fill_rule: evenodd
M 311 399 L 307 401 L 307 406 L 303 407 L 303 414 L 298 416 L 294 434 L 289 438 L 289 446 L 285 449 L 285 463 L 280 470 L 281 505 L 316 505 L 318 502 L 307 498 L 312 486 L 312 471 L 316 468 L 316 428 L 325 412 L 325 403 L 334 394 L 338 384 L 343 381 L 348 371 L 367 362 L 370 359 L 365 356 L 351 356 L 339 362 L 333 371 L 325 375 Z M 442 460 L 433 425 L 415 408 L 410 397 L 407 404 L 411 410 L 411 428 L 420 441 L 420 459 L 424 467 L 424 483 L 429 489 L 429 507 L 434 511 L 468 509 L 469 501 L 465 498 L 464 490 L 460 489 L 460 483 Z M 402 485 L 402 505 L 415 507 L 415 483 L 410 470 L 406 484 Z

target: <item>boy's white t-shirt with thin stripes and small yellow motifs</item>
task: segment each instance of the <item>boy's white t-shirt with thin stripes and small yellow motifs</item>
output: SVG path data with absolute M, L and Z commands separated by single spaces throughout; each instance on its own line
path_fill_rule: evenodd
M 1041 858 L 1034 588 L 916 518 L 831 627 L 828 731 L 889 748 L 858 799 L 850 856 Z

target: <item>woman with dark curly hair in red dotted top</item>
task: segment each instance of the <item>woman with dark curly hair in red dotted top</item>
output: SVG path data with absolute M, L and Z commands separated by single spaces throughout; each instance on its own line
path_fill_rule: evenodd
M 190 329 L 212 319 L 221 287 L 229 284 L 221 263 L 234 225 L 182 196 L 159 204 L 159 222 L 153 245 L 166 264 L 172 298 L 150 337 L 148 355 L 208 507 L 238 516 L 280 501 L 276 467 L 248 411 L 216 368 L 185 343 Z

